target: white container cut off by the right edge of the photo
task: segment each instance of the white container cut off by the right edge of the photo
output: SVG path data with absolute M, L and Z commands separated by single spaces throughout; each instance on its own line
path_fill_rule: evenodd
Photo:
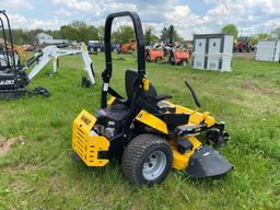
M 255 60 L 280 61 L 280 40 L 259 40 Z

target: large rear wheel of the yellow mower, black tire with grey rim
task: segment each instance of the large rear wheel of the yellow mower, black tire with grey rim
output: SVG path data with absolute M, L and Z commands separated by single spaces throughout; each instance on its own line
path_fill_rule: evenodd
M 126 148 L 121 167 L 135 185 L 153 185 L 163 182 L 172 166 L 168 143 L 154 135 L 139 135 Z

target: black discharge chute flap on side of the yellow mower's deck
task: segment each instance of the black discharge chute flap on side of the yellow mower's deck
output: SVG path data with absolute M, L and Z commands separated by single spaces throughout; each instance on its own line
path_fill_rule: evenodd
M 185 173 L 194 178 L 202 178 L 222 175 L 232 168 L 232 164 L 218 151 L 208 145 L 202 145 L 190 156 Z

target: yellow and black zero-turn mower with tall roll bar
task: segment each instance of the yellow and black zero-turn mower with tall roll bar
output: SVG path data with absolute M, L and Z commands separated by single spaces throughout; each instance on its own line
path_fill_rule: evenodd
M 127 70 L 122 97 L 109 86 L 113 73 L 110 33 L 115 18 L 130 16 L 138 43 L 138 71 Z M 206 142 L 224 143 L 228 133 L 208 112 L 172 104 L 171 95 L 158 95 L 145 74 L 144 38 L 137 13 L 109 14 L 105 24 L 106 69 L 102 73 L 101 108 L 95 116 L 82 110 L 73 121 L 74 158 L 88 166 L 105 166 L 120 158 L 125 176 L 133 184 L 153 185 L 167 176 L 171 167 L 199 178 L 221 175 L 232 165 L 197 136 L 206 131 Z M 186 82 L 200 107 L 194 90 Z M 112 97 L 107 101 L 107 94 Z

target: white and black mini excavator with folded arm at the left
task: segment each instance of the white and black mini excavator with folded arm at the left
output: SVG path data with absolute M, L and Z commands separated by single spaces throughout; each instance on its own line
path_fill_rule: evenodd
M 13 45 L 10 21 L 5 11 L 0 11 L 0 30 L 2 31 L 3 37 L 3 47 L 0 50 L 0 100 L 18 98 L 28 93 L 30 91 L 26 86 L 31 80 L 50 60 L 52 60 L 54 72 L 57 72 L 58 58 L 67 55 L 82 55 L 84 70 L 89 77 L 89 79 L 82 79 L 82 85 L 90 86 L 91 84 L 95 84 L 92 59 L 89 56 L 84 43 L 80 45 L 79 49 L 62 49 L 56 46 L 47 46 L 22 65 L 20 55 Z M 34 66 L 33 69 L 26 72 L 32 66 Z M 35 89 L 35 94 L 49 95 L 48 91 L 40 86 Z

